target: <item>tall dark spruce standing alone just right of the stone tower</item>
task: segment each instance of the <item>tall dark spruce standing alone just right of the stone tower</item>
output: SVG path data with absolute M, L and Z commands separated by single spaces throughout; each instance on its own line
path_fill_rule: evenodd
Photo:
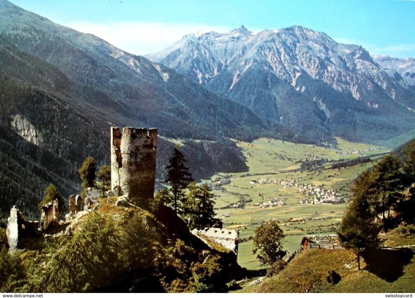
M 178 146 L 174 148 L 171 157 L 168 160 L 166 166 L 167 175 L 164 181 L 170 185 L 171 192 L 171 204 L 176 213 L 183 214 L 186 207 L 186 188 L 193 181 L 192 174 L 189 172 L 189 168 L 186 167 L 186 159 L 183 153 L 179 150 Z

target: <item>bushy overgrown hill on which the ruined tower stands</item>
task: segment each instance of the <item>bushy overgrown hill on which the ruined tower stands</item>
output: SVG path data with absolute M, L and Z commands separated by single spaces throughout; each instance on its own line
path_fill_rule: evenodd
M 0 292 L 223 292 L 246 276 L 232 251 L 200 241 L 173 210 L 116 200 L 22 239 L 13 255 L 0 228 Z

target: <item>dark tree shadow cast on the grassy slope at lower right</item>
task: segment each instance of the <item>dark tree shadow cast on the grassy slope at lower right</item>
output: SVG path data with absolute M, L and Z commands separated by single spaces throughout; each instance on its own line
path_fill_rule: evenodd
M 403 275 L 403 268 L 410 264 L 413 252 L 410 249 L 376 249 L 362 256 L 367 271 L 391 283 Z

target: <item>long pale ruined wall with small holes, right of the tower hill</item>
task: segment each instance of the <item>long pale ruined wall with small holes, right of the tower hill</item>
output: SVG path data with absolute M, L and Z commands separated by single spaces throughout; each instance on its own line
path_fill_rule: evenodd
M 205 228 L 203 230 L 194 229 L 192 234 L 198 236 L 205 236 L 213 242 L 220 244 L 227 249 L 238 254 L 239 246 L 239 230 L 234 229 L 220 229 L 220 228 Z M 203 240 L 203 238 L 201 238 Z

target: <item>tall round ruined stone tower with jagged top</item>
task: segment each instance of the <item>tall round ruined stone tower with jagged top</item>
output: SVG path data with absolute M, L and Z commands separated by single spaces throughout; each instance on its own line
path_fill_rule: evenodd
M 111 187 L 146 207 L 154 197 L 157 128 L 111 127 Z

